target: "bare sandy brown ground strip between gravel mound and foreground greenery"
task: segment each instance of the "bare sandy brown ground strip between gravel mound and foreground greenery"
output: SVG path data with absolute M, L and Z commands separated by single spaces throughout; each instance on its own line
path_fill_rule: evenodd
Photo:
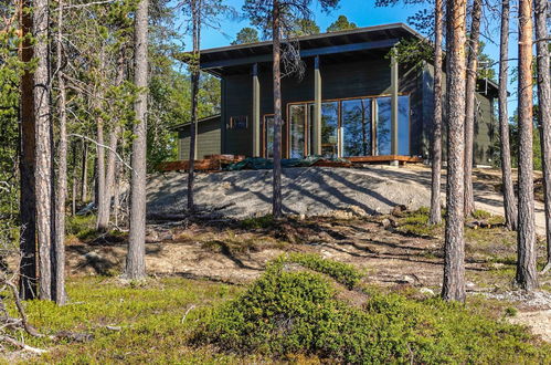
M 187 278 L 243 285 L 264 271 L 266 262 L 285 252 L 317 253 L 353 264 L 365 282 L 392 291 L 437 295 L 443 273 L 444 227 L 427 226 L 426 209 L 339 219 L 269 216 L 244 220 L 186 219 L 148 225 L 147 268 L 159 278 Z M 551 274 L 541 291 L 513 286 L 516 234 L 502 218 L 485 211 L 467 222 L 466 280 L 469 298 L 515 307 L 515 323 L 530 325 L 551 341 Z M 73 277 L 116 275 L 123 270 L 126 239 L 120 234 L 73 237 L 67 246 Z M 545 242 L 538 240 L 540 267 Z M 540 268 L 541 269 L 541 268 Z

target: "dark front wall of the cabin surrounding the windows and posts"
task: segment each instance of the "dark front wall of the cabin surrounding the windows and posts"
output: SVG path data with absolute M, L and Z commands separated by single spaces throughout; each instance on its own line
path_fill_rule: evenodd
M 314 63 L 305 60 L 306 71 L 301 80 L 295 75 L 284 77 L 282 81 L 283 118 L 287 121 L 289 103 L 314 101 Z M 403 71 L 401 71 L 402 73 Z M 252 75 L 251 73 L 229 75 L 224 77 L 225 111 L 223 115 L 222 133 L 224 142 L 223 152 L 227 154 L 247 155 L 252 154 Z M 261 65 L 258 73 L 261 85 L 261 118 L 266 114 L 273 114 L 273 77 L 269 65 Z M 382 56 L 358 62 L 346 62 L 339 64 L 324 64 L 321 58 L 321 98 L 345 98 L 360 96 L 388 95 L 390 93 L 390 60 Z M 422 119 L 422 92 L 420 91 L 418 72 L 400 82 L 400 92 L 411 94 L 411 154 L 421 154 L 421 144 L 415 136 L 421 134 Z M 226 129 L 232 116 L 247 115 L 247 129 Z M 284 156 L 287 153 L 287 129 L 283 131 Z

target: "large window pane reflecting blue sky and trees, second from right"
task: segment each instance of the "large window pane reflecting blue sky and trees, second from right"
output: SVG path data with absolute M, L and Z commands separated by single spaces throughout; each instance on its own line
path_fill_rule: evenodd
M 371 155 L 371 100 L 342 102 L 342 155 Z

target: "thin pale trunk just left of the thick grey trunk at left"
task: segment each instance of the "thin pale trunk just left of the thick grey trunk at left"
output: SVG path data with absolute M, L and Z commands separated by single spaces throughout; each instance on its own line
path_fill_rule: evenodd
M 103 74 L 105 69 L 105 50 L 102 46 L 99 51 L 99 77 Z M 96 81 L 97 82 L 97 81 Z M 94 105 L 96 112 L 99 113 L 103 103 L 104 93 L 102 91 L 103 85 L 96 85 L 98 88 L 97 95 L 95 95 Z M 105 207 L 105 139 L 104 139 L 104 119 L 103 116 L 99 115 L 96 121 L 96 158 L 97 158 L 97 169 L 96 169 L 96 207 L 97 207 L 97 218 L 96 218 L 96 229 L 100 232 L 107 230 L 107 225 L 105 225 L 107 216 L 107 222 L 109 221 L 109 215 L 106 211 Z

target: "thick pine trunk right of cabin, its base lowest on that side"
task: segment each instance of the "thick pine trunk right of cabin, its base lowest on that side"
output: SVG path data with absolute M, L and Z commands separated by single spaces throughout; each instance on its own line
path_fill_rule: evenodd
M 466 0 L 447 0 L 447 184 L 442 298 L 465 301 L 464 138 Z

